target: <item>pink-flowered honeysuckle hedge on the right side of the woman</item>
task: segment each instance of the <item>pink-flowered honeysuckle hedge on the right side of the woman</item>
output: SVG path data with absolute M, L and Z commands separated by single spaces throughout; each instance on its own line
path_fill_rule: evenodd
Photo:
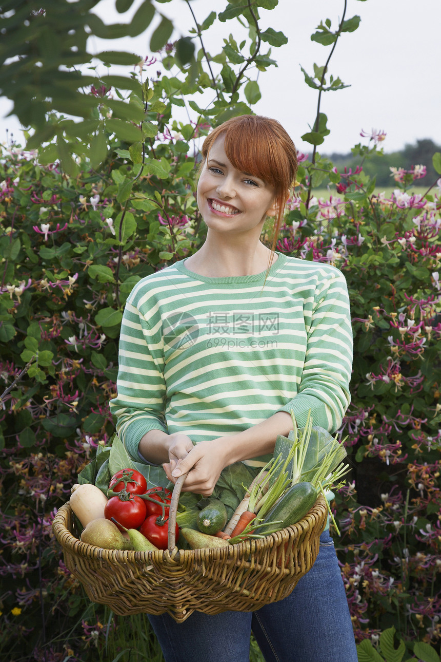
M 361 166 L 331 168 L 336 190 L 307 209 L 301 191 L 278 244 L 348 282 L 354 369 L 340 434 L 353 472 L 335 499 L 339 559 L 356 638 L 395 626 L 409 655 L 411 642 L 441 639 L 441 179 L 416 195 L 423 169 L 397 170 L 386 198 Z

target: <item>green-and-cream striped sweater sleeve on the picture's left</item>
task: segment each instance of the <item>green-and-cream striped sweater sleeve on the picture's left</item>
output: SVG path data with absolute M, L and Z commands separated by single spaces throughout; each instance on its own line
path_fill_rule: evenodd
M 154 325 L 132 301 L 129 299 L 124 309 L 117 395 L 110 401 L 110 411 L 117 418 L 120 440 L 139 462 L 138 445 L 143 435 L 156 429 L 167 432 L 166 387 L 161 321 Z

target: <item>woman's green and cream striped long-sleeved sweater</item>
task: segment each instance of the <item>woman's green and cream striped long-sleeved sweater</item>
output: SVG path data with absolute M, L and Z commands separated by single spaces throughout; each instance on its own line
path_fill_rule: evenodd
M 110 401 L 134 459 L 156 428 L 197 443 L 290 410 L 300 427 L 311 410 L 313 424 L 339 428 L 352 364 L 346 282 L 330 265 L 277 255 L 267 276 L 205 277 L 181 260 L 134 287 Z

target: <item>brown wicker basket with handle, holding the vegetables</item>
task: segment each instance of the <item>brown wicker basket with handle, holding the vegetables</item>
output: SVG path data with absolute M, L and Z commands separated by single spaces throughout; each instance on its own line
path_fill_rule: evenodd
M 195 610 L 249 612 L 288 596 L 317 557 L 326 519 L 327 506 L 319 496 L 300 522 L 264 539 L 179 550 L 170 526 L 169 549 L 153 552 L 102 549 L 81 542 L 68 503 L 58 510 L 53 529 L 65 565 L 93 602 L 107 604 L 123 616 L 167 612 L 182 623 Z

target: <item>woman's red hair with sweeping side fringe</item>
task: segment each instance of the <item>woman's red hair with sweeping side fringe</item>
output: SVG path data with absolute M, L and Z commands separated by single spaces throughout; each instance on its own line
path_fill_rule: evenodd
M 225 154 L 233 167 L 274 187 L 277 209 L 271 246 L 274 252 L 286 199 L 296 181 L 296 146 L 277 120 L 261 115 L 241 115 L 216 126 L 208 134 L 202 146 L 204 161 L 220 136 L 224 138 Z

